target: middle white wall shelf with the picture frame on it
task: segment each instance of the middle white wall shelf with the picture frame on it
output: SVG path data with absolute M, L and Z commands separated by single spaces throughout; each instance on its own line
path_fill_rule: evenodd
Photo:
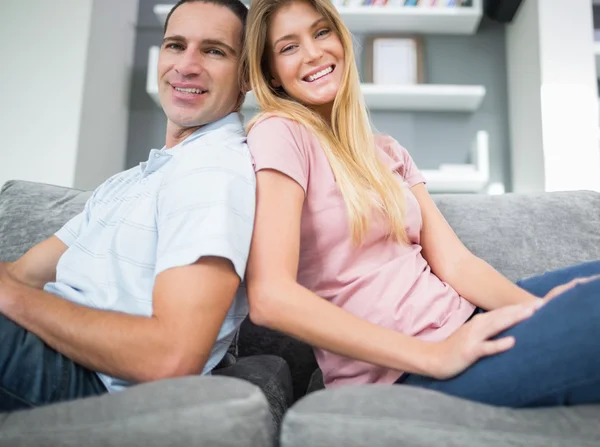
M 158 80 L 156 70 L 159 47 L 150 48 L 146 91 L 160 105 L 158 100 Z M 473 112 L 479 108 L 485 97 L 485 87 L 481 85 L 375 85 L 363 84 L 365 102 L 371 111 L 438 111 Z M 252 92 L 246 95 L 245 109 L 256 109 L 256 98 Z

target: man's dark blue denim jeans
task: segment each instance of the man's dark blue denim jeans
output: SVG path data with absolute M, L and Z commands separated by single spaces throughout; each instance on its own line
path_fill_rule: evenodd
M 106 393 L 96 373 L 0 315 L 0 412 Z

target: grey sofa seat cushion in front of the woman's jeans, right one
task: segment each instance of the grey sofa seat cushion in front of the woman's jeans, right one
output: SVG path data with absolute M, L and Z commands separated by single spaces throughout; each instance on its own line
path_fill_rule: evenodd
M 600 445 L 599 406 L 514 410 L 406 385 L 309 394 L 283 421 L 281 447 Z

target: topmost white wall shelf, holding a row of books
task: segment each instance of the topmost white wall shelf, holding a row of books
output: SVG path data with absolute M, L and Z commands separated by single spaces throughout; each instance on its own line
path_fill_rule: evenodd
M 174 5 L 154 6 L 161 24 Z M 482 0 L 471 7 L 339 6 L 352 33 L 474 34 L 483 16 Z

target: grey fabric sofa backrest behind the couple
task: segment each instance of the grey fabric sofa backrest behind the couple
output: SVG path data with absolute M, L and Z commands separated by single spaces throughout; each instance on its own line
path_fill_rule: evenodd
M 83 209 L 89 192 L 12 181 L 0 190 L 0 259 L 12 261 Z M 590 191 L 434 195 L 463 243 L 511 280 L 600 259 L 600 193 Z M 242 325 L 238 354 L 274 354 L 292 371 L 295 398 L 316 368 L 312 349 L 283 334 Z

